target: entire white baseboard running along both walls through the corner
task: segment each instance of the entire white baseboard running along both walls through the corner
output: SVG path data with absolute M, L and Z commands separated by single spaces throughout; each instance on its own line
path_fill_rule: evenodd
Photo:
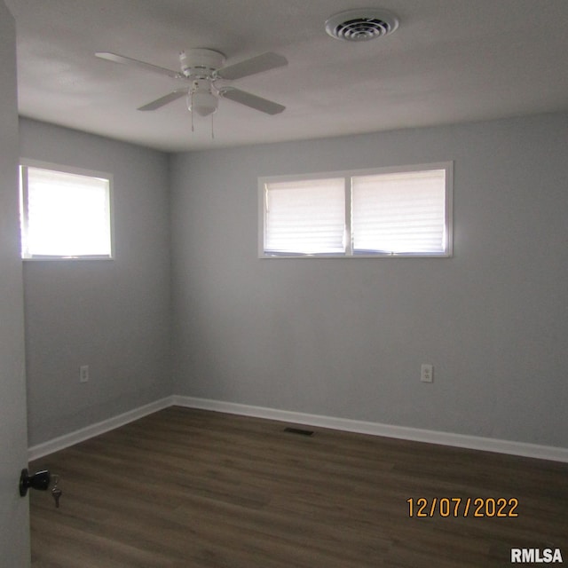
M 291 412 L 288 410 L 278 410 L 266 408 L 264 406 L 241 405 L 222 400 L 210 400 L 209 398 L 193 398 L 173 395 L 162 398 L 149 405 L 141 406 L 127 413 L 114 416 L 103 422 L 98 422 L 76 430 L 65 436 L 54 438 L 43 444 L 32 446 L 28 449 L 28 460 L 33 461 L 53 452 L 58 452 L 68 446 L 73 446 L 86 439 L 94 438 L 109 430 L 119 428 L 124 424 L 138 420 L 148 414 L 158 412 L 169 406 L 185 406 L 189 408 L 200 408 L 202 410 L 212 410 L 227 414 L 239 414 L 241 416 L 255 416 L 256 418 L 266 418 L 268 420 L 278 420 L 280 422 L 291 422 L 304 424 L 306 426 L 319 426 L 331 430 L 344 430 L 359 434 L 370 434 L 372 436 L 384 436 L 387 438 L 400 438 L 413 440 L 415 442 L 426 442 L 429 444 L 440 444 L 442 446 L 464 447 L 472 450 L 484 452 L 496 452 L 498 454 L 522 455 L 540 460 L 564 461 L 568 462 L 568 448 L 555 446 L 539 446 L 536 444 L 525 444 L 523 442 L 513 442 L 509 440 L 499 440 L 494 438 L 481 438 L 477 436 L 466 436 L 463 434 L 452 434 L 448 432 L 438 432 L 435 430 L 421 430 L 418 428 L 407 428 L 406 426 L 392 426 L 379 422 L 363 422 L 359 420 L 349 420 L 345 418 L 334 418 L 332 416 L 322 416 L 319 414 L 305 414 Z

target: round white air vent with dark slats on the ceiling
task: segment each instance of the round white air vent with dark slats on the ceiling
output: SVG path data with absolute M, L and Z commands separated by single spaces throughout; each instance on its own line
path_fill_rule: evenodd
M 373 8 L 339 12 L 326 21 L 327 34 L 346 42 L 387 36 L 397 28 L 398 18 L 394 14 Z

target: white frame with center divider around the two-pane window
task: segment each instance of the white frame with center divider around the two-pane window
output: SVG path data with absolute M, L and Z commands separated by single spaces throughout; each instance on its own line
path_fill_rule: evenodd
M 382 174 L 394 174 L 405 172 L 420 172 L 429 170 L 445 170 L 445 247 L 441 252 L 376 252 L 370 254 L 354 254 L 352 249 L 351 235 L 351 178 L 359 176 L 374 176 Z M 270 254 L 265 253 L 266 235 L 266 195 L 267 184 L 275 182 L 308 181 L 311 179 L 323 179 L 342 177 L 345 187 L 345 250 L 343 253 L 336 254 Z M 454 162 L 435 162 L 422 163 L 403 166 L 392 166 L 385 168 L 374 168 L 365 170 L 341 170 L 332 172 L 319 172 L 310 174 L 297 174 L 290 176 L 270 176 L 258 178 L 258 257 L 259 258 L 447 258 L 454 255 L 454 223 L 453 223 L 453 201 L 454 201 Z

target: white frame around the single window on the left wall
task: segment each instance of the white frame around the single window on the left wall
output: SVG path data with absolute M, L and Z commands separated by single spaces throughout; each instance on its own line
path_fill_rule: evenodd
M 33 255 L 26 248 L 26 233 L 28 231 L 28 168 L 51 170 L 62 174 L 74 174 L 86 177 L 98 177 L 108 181 L 108 208 L 110 230 L 110 253 L 108 255 Z M 20 160 L 20 230 L 21 230 L 21 257 L 26 262 L 37 261 L 76 261 L 76 260 L 113 260 L 114 259 L 114 178 L 113 174 L 98 171 L 85 170 L 52 162 L 40 162 L 37 160 Z

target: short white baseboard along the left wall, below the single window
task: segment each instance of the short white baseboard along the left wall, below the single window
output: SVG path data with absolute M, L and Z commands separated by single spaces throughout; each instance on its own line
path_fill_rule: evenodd
M 59 438 L 53 438 L 43 444 L 38 444 L 37 446 L 31 446 L 28 448 L 28 461 L 37 460 L 38 458 L 43 458 L 44 455 L 52 454 L 53 452 L 59 452 L 66 447 L 74 446 L 79 442 L 83 442 L 89 438 L 94 438 L 99 436 L 99 434 L 104 434 L 109 430 L 114 430 L 128 424 L 129 422 L 134 422 L 139 418 L 143 418 L 148 414 L 154 414 L 163 408 L 172 406 L 172 397 L 162 398 L 161 400 L 156 400 L 145 406 L 140 406 L 134 410 L 130 410 L 124 414 L 119 414 L 118 416 L 113 416 L 102 422 L 97 422 L 81 430 L 75 430 L 70 434 L 65 434 L 64 436 L 59 436 Z

